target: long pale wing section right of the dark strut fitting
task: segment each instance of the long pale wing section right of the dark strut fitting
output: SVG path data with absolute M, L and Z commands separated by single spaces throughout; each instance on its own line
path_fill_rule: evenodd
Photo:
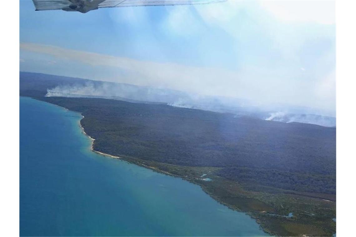
M 209 4 L 225 0 L 106 0 L 99 4 L 101 7 L 129 7 L 129 6 L 164 6 L 164 5 L 191 5 Z

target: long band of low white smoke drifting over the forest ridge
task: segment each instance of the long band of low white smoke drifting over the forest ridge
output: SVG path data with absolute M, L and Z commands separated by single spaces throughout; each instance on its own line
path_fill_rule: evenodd
M 164 103 L 174 107 L 248 115 L 283 123 L 298 122 L 328 127 L 336 126 L 336 119 L 334 117 L 309 114 L 312 112 L 310 108 L 289 107 L 290 112 L 268 112 L 273 111 L 273 109 L 267 109 L 267 107 L 262 109 L 246 100 L 237 98 L 203 96 L 176 90 L 114 82 L 86 81 L 75 85 L 56 86 L 48 89 L 46 96 L 105 98 L 133 103 Z

